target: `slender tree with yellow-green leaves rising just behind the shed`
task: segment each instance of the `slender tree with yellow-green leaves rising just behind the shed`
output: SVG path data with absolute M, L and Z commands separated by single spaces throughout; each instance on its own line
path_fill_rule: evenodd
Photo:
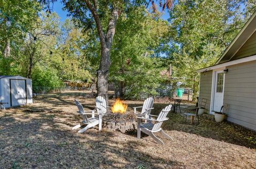
M 27 78 L 31 78 L 33 67 L 45 56 L 43 49 L 46 48 L 48 53 L 52 53 L 51 50 L 54 48 L 53 45 L 56 44 L 55 41 L 60 32 L 59 24 L 57 13 L 50 15 L 41 13 L 35 19 L 34 25 L 28 29 L 29 32 L 24 39 L 24 47 L 21 48 L 23 58 L 25 58 L 24 65 L 26 65 Z

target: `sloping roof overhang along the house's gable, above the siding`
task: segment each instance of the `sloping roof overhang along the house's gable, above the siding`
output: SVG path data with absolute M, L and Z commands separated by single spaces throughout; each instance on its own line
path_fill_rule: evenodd
M 229 46 L 222 53 L 219 60 L 214 65 L 230 61 L 231 58 L 244 45 L 244 43 L 252 36 L 252 34 L 256 30 L 256 17 L 255 16 L 256 16 L 256 11 L 252 14 L 251 18 L 245 23 L 243 28 L 239 31 L 237 36 L 229 44 Z

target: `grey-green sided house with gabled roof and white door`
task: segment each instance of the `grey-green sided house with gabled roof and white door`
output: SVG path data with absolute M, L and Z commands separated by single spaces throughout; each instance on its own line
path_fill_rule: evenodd
M 256 12 L 239 31 L 219 60 L 200 73 L 199 99 L 206 111 L 219 112 L 228 104 L 227 120 L 256 131 Z

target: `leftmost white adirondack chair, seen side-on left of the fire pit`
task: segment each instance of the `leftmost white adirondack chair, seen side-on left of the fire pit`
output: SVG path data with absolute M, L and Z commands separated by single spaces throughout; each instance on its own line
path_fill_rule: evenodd
M 86 125 L 85 128 L 78 131 L 78 133 L 82 133 L 90 128 L 93 128 L 95 125 L 99 124 L 99 131 L 101 131 L 102 113 L 101 112 L 95 113 L 95 110 L 84 111 L 83 106 L 76 99 L 75 99 L 75 104 L 78 108 L 77 113 L 79 113 L 82 116 L 83 121 L 80 124 L 77 124 L 76 126 L 74 126 L 72 130 L 78 129 L 81 126 Z M 87 112 L 90 112 L 90 113 L 87 113 Z M 95 117 L 94 116 L 95 114 L 99 114 L 99 118 Z M 88 118 L 87 115 L 91 115 L 91 118 Z

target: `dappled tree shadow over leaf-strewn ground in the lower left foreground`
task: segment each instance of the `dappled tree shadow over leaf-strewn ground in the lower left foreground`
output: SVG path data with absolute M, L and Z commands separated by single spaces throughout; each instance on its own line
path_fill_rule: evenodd
M 118 133 L 90 129 L 78 134 L 47 112 L 0 119 L 0 165 L 3 168 L 166 168 L 185 167 L 138 149 L 139 141 L 115 140 Z

